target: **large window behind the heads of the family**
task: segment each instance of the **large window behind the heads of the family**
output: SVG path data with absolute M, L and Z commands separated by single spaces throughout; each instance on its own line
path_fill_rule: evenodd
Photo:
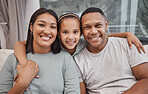
M 101 8 L 109 21 L 109 33 L 132 32 L 148 44 L 147 0 L 40 0 L 40 4 L 53 9 L 58 16 L 67 12 L 80 16 L 88 7 Z

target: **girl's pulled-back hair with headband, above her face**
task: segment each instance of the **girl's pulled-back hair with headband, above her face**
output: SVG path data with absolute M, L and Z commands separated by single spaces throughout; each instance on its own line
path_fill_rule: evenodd
M 60 31 L 60 28 L 61 28 L 61 21 L 63 19 L 68 19 L 68 18 L 75 18 L 75 19 L 78 19 L 78 21 L 80 22 L 80 17 L 77 14 L 74 14 L 74 13 L 63 14 L 63 15 L 60 16 L 60 18 L 58 20 L 58 32 Z

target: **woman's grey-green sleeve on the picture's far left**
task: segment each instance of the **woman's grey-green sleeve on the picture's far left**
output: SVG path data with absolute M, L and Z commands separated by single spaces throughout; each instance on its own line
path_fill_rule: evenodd
M 14 72 L 13 72 L 13 62 L 15 56 L 13 54 L 9 55 L 2 70 L 0 71 L 0 94 L 6 94 L 13 86 Z

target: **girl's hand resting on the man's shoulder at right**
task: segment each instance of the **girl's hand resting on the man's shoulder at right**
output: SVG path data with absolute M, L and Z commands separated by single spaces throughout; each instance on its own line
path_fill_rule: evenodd
M 129 47 L 132 48 L 132 44 L 134 44 L 137 47 L 139 53 L 141 53 L 141 50 L 145 53 L 144 47 L 142 43 L 139 41 L 139 39 L 130 32 L 126 32 L 126 33 L 127 33 L 127 41 L 128 41 Z

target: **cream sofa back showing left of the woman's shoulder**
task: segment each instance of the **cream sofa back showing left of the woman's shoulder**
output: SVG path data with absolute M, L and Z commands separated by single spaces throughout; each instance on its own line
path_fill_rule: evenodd
M 14 51 L 12 49 L 0 49 L 0 70 L 3 67 L 7 57 L 13 52 Z

